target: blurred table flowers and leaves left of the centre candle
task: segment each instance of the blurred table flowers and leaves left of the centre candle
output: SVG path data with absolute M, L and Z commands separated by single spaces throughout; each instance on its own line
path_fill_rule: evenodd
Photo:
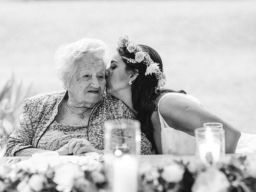
M 44 172 L 0 166 L 0 192 L 104 192 L 103 165 L 90 160 L 80 166 L 66 163 Z

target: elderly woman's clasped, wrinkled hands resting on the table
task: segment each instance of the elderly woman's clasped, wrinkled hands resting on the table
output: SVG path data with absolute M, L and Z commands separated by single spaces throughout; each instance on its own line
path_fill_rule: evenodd
M 88 152 L 97 152 L 102 154 L 102 151 L 94 148 L 86 139 L 72 138 L 66 145 L 56 150 L 60 155 L 79 155 Z

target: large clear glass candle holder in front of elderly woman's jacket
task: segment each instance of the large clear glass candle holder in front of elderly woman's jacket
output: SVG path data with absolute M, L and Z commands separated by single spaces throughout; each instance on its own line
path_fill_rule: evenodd
M 104 164 L 110 191 L 137 192 L 140 123 L 138 120 L 112 120 L 104 126 Z

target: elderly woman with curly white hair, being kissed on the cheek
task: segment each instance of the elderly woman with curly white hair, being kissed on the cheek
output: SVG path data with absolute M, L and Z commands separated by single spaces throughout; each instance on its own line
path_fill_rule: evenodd
M 86 38 L 58 48 L 55 58 L 66 90 L 24 100 L 6 156 L 31 156 L 46 150 L 60 155 L 102 153 L 103 123 L 135 118 L 123 102 L 104 94 L 107 52 L 101 40 Z M 151 143 L 145 134 L 141 136 L 141 154 L 150 154 Z

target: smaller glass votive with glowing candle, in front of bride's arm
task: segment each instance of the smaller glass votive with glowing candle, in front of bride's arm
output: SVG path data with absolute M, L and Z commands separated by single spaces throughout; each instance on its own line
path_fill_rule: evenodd
M 195 129 L 196 154 L 206 166 L 215 165 L 225 156 L 224 129 L 202 127 Z

